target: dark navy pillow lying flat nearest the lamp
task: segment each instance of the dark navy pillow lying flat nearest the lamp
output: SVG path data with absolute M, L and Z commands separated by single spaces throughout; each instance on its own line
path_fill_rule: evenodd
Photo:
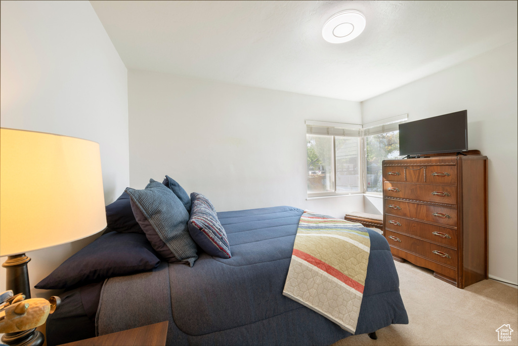
M 151 270 L 159 264 L 144 234 L 110 232 L 72 255 L 35 287 L 72 288 Z

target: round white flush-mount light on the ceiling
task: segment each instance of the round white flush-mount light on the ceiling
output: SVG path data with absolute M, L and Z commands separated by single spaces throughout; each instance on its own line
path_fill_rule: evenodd
M 338 12 L 325 22 L 322 37 L 329 43 L 348 42 L 364 31 L 365 23 L 365 16 L 360 11 Z

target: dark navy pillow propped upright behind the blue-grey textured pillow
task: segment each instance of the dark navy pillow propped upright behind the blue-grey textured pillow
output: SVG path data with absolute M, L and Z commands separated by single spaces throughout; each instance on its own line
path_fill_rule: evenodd
M 130 195 L 122 195 L 106 206 L 106 222 L 109 229 L 121 233 L 144 233 L 131 209 Z

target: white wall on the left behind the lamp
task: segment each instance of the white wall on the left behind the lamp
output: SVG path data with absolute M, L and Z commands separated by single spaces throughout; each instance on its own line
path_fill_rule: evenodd
M 129 182 L 127 70 L 91 4 L 2 1 L 1 25 L 1 126 L 99 143 L 111 203 Z M 37 189 L 38 175 L 25 183 Z M 94 237 L 27 253 L 31 286 Z

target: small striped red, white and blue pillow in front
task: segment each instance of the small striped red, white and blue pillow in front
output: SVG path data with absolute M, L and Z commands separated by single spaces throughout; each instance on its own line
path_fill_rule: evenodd
M 211 256 L 231 258 L 225 229 L 218 220 L 214 206 L 201 193 L 191 193 L 189 233 L 199 247 Z

